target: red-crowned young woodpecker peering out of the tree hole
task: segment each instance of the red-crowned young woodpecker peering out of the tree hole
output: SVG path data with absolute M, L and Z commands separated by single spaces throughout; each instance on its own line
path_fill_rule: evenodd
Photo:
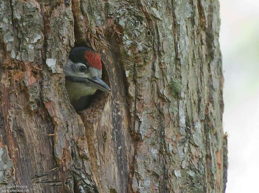
M 73 47 L 69 53 L 65 69 L 68 97 L 76 111 L 81 111 L 89 105 L 90 96 L 97 89 L 109 92 L 109 86 L 102 78 L 102 63 L 100 57 L 86 47 Z

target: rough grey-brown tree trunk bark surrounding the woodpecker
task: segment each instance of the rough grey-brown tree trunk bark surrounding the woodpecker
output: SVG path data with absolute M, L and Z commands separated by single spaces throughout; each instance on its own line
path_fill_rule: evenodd
M 225 192 L 219 26 L 218 0 L 1 1 L 0 184 Z M 111 88 L 78 114 L 74 44 L 96 50 Z

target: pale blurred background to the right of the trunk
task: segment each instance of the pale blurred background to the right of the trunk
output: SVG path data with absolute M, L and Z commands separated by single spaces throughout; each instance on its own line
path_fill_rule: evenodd
M 259 1 L 220 0 L 226 193 L 259 192 Z

